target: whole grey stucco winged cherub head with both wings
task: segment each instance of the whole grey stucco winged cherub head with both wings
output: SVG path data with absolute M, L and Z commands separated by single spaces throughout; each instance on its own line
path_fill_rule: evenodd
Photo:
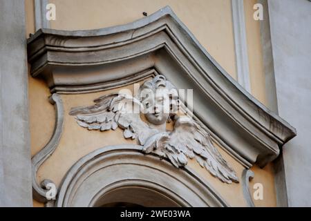
M 100 131 L 119 127 L 125 138 L 138 140 L 143 153 L 167 158 L 176 167 L 185 166 L 188 158 L 195 158 L 221 181 L 238 182 L 235 171 L 214 147 L 209 133 L 194 119 L 176 114 L 178 90 L 163 75 L 144 81 L 138 98 L 114 93 L 94 102 L 93 106 L 70 110 L 79 126 Z M 144 117 L 147 122 L 142 120 Z M 167 129 L 167 122 L 173 123 L 173 130 Z

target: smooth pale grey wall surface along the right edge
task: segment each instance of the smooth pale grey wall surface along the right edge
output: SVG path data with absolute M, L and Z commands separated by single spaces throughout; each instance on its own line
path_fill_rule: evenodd
M 311 206 L 311 2 L 268 3 L 279 115 L 298 131 L 283 146 L 288 206 Z

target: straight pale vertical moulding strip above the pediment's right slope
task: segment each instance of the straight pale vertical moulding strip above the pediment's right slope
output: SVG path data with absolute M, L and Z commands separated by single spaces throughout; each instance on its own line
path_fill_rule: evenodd
M 234 46 L 236 50 L 236 73 L 238 83 L 251 93 L 249 80 L 249 63 L 247 55 L 247 39 L 244 18 L 243 0 L 232 0 L 232 23 L 234 29 Z

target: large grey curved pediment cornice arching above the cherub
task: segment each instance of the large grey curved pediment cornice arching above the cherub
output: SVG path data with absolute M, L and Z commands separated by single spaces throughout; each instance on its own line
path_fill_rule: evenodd
M 217 64 L 169 7 L 124 26 L 38 30 L 28 39 L 28 61 L 52 93 L 91 93 L 159 74 L 176 88 L 192 88 L 194 115 L 246 167 L 265 166 L 296 135 Z

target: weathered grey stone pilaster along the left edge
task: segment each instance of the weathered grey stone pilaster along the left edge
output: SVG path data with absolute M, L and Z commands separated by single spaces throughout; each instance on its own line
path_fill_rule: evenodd
M 0 1 L 0 206 L 32 206 L 24 3 Z

